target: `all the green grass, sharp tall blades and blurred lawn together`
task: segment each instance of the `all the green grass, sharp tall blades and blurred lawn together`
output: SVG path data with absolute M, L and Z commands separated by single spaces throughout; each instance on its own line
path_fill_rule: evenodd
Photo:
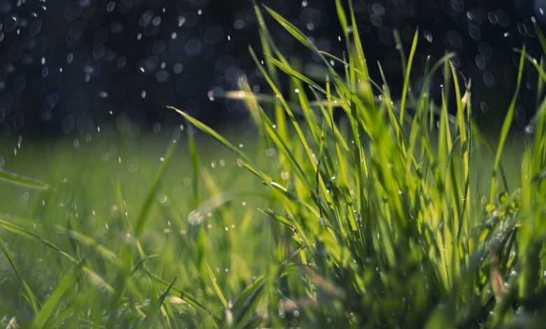
M 344 58 L 255 7 L 263 53 L 250 52 L 274 97 L 254 94 L 244 77 L 239 91 L 225 94 L 248 107 L 255 130 L 246 138 L 171 108 L 216 143 L 177 131 L 165 154 L 157 141 L 114 148 L 106 137 L 76 151 L 21 148 L 0 174 L 13 183 L 0 187 L 3 324 L 540 326 L 542 62 L 518 50 L 517 89 L 491 142 L 472 120 L 470 81 L 451 65 L 453 55 L 428 63 L 414 94 L 416 33 L 407 58 L 402 52 L 402 95 L 393 102 L 388 82 L 370 79 L 358 30 L 349 33 L 351 3 L 336 3 Z M 321 59 L 322 78 L 279 52 L 264 13 Z M 538 27 L 537 34 L 546 45 Z M 526 65 L 538 72 L 538 109 L 533 133 L 514 139 Z M 438 76 L 440 105 L 430 99 Z

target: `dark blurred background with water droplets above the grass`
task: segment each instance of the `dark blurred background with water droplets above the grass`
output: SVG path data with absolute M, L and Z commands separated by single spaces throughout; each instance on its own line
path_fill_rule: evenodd
M 260 1 L 341 56 L 344 42 L 333 0 Z M 518 55 L 540 56 L 531 24 L 543 26 L 546 0 L 353 0 L 372 77 L 379 60 L 391 87 L 401 68 L 393 29 L 407 51 L 419 27 L 412 76 L 428 55 L 455 51 L 472 78 L 476 118 L 496 127 L 512 97 Z M 345 2 L 344 2 L 345 3 Z M 174 105 L 212 125 L 245 120 L 238 102 L 214 97 L 245 73 L 267 92 L 248 55 L 259 48 L 251 0 L 0 0 L 0 135 L 57 137 L 102 130 L 140 134 L 176 125 Z M 305 65 L 316 57 L 267 18 L 281 50 Z M 536 74 L 527 69 L 516 123 L 535 110 Z M 212 97 L 211 97 L 212 96 Z M 129 127 L 129 128 L 127 128 Z

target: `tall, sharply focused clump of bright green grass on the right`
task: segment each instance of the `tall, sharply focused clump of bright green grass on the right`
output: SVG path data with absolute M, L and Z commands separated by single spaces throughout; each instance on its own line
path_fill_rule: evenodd
M 351 2 L 348 14 L 341 1 L 336 4 L 347 45 L 344 59 L 318 50 L 297 27 L 265 8 L 322 60 L 324 80 L 291 66 L 256 7 L 265 64 L 250 52 L 274 104 L 264 105 L 267 97 L 251 92 L 245 78 L 241 91 L 227 95 L 244 99 L 263 139 L 276 147 L 284 177 L 263 172 L 228 140 L 175 109 L 234 151 L 279 204 L 262 211 L 288 230 L 291 237 L 278 252 L 298 275 L 279 271 L 267 277 L 268 314 L 280 308 L 281 314 L 301 314 L 306 323 L 358 328 L 540 324 L 546 316 L 546 102 L 540 93 L 519 188 L 509 189 L 501 164 L 526 59 L 540 83 L 542 66 L 525 47 L 518 50 L 517 87 L 493 147 L 472 121 L 470 81 L 461 84 L 452 54 L 427 64 L 423 89 L 411 94 L 416 32 L 395 106 L 388 83 L 370 80 L 358 30 L 349 34 L 349 26 L 356 26 Z M 544 43 L 538 28 L 537 34 Z M 330 64 L 332 58 L 343 64 L 343 72 Z M 442 88 L 442 103 L 435 106 L 429 90 L 438 71 L 451 90 Z M 281 92 L 281 75 L 295 93 Z M 456 99 L 451 111 L 449 92 Z M 335 111 L 343 113 L 341 123 Z M 489 188 L 477 186 L 484 149 L 494 158 Z

